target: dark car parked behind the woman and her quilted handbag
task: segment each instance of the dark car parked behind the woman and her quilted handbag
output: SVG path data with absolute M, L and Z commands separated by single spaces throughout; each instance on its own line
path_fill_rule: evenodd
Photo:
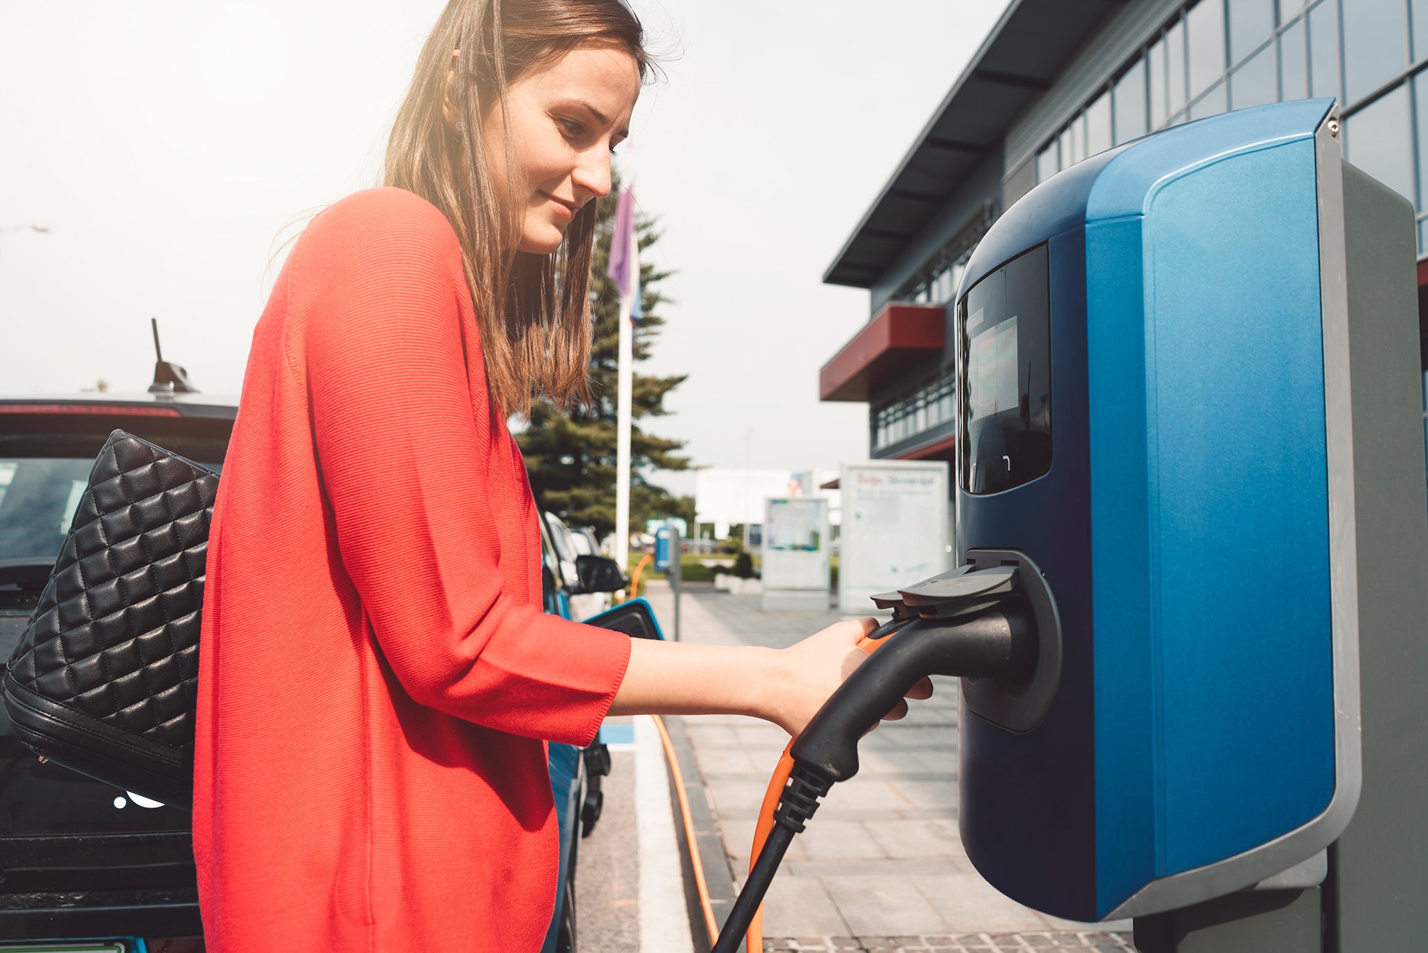
M 177 380 L 186 383 L 181 373 Z M 237 400 L 156 387 L 160 393 L 0 397 L 0 673 L 113 430 L 221 471 Z M 551 547 L 543 542 L 548 573 Z M 568 617 L 570 592 L 564 579 L 548 587 L 547 612 Z M 283 756 L 274 752 L 276 769 Z M 585 767 L 581 749 L 550 746 L 561 889 L 547 953 L 575 949 L 573 884 L 577 832 L 583 814 L 588 819 Z M 73 940 L 74 949 L 83 940 L 84 950 L 134 953 L 143 949 L 137 937 L 147 937 L 151 950 L 200 950 L 197 939 L 170 940 L 203 933 L 190 823 L 187 812 L 37 759 L 14 740 L 0 706 L 0 953 L 31 949 L 11 946 L 14 940 Z M 96 940 L 113 946 L 96 947 Z

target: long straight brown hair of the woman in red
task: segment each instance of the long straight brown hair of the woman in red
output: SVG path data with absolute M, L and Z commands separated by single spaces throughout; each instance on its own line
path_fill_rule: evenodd
M 387 141 L 386 184 L 440 209 L 461 243 L 487 387 L 506 414 L 528 413 L 533 387 L 563 407 L 590 401 L 595 203 L 575 213 L 554 254 L 503 253 L 517 247 L 521 221 L 503 220 L 497 207 L 481 119 L 493 109 L 506 113 L 507 89 L 527 69 L 597 39 L 623 44 L 645 79 L 644 30 L 621 0 L 451 0 L 421 49 Z M 450 96 L 461 131 L 447 127 L 441 109 L 453 60 Z M 507 194 L 517 193 L 513 149 L 507 139 Z

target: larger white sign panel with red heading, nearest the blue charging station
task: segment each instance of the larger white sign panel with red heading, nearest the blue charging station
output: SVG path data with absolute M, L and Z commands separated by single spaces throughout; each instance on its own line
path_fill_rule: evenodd
M 870 596 L 952 566 L 948 466 L 942 460 L 845 463 L 838 609 L 864 616 Z

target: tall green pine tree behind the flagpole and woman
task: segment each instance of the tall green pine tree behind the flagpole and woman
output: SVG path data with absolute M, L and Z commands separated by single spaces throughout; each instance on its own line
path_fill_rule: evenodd
M 594 403 L 563 411 L 545 400 L 531 406 L 528 427 L 517 434 L 531 490 L 541 509 L 555 513 L 571 526 L 593 526 L 600 537 L 615 527 L 615 399 L 620 361 L 620 291 L 605 276 L 610 260 L 610 234 L 614 230 L 615 196 L 600 199 L 600 224 L 595 231 L 593 274 L 590 279 L 594 341 L 590 350 L 590 377 Z M 670 276 L 648 264 L 645 249 L 660 240 L 655 221 L 635 214 L 635 234 L 640 241 L 640 299 L 644 316 L 634 326 L 635 366 L 650 357 L 650 350 L 664 324 L 655 309 L 667 301 L 657 284 Z M 694 522 L 694 499 L 675 497 L 644 479 L 650 469 L 685 470 L 687 457 L 680 456 L 681 440 L 670 440 L 645 433 L 640 421 L 660 417 L 664 396 L 677 387 L 685 374 L 653 377 L 634 374 L 630 427 L 630 527 L 643 530 L 645 520 L 684 517 Z

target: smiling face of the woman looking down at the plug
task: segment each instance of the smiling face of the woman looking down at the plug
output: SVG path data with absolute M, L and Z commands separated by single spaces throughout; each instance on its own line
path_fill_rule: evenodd
M 520 221 L 521 251 L 553 253 L 581 206 L 610 194 L 610 151 L 630 134 L 638 96 L 634 57 L 620 44 L 590 41 L 517 77 L 504 123 L 500 109 L 486 116 L 487 169 L 501 211 Z M 506 194 L 508 181 L 514 194 Z

